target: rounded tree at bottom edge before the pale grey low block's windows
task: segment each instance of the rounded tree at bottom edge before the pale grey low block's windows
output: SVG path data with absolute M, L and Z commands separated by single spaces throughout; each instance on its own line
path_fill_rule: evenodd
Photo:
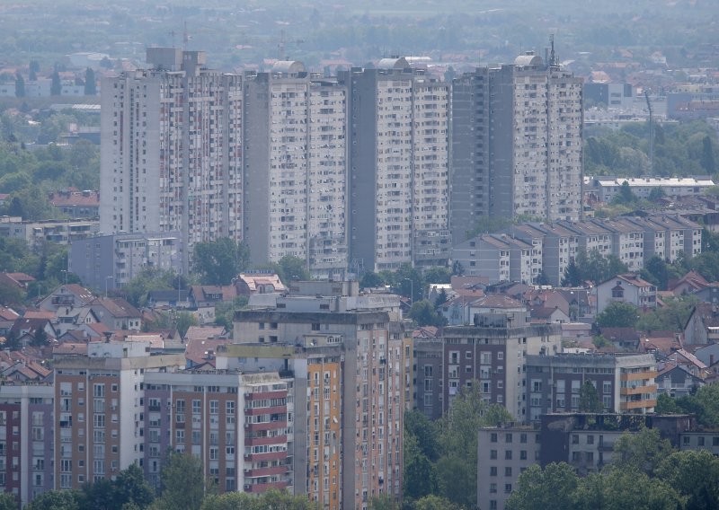
M 552 462 L 544 470 L 534 464 L 519 475 L 504 507 L 507 510 L 573 508 L 573 493 L 578 485 L 579 478 L 573 467 L 565 462 Z

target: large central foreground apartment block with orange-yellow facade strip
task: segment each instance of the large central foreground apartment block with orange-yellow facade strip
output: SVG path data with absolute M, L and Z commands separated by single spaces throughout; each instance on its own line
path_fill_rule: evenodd
M 323 508 L 402 493 L 399 301 L 358 291 L 357 282 L 298 282 L 287 296 L 252 296 L 250 310 L 235 312 L 240 344 L 217 355 L 221 368 L 291 378 L 294 490 Z

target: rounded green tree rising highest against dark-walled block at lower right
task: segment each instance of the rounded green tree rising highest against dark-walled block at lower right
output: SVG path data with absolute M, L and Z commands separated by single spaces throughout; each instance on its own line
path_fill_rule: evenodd
M 670 442 L 661 439 L 658 429 L 643 427 L 635 434 L 625 433 L 617 439 L 612 465 L 619 470 L 644 472 L 651 476 L 671 452 Z

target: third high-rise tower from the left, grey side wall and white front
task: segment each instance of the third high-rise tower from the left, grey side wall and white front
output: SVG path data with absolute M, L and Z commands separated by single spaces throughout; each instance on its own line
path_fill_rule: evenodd
M 351 98 L 352 267 L 446 263 L 449 85 L 404 58 L 339 79 Z

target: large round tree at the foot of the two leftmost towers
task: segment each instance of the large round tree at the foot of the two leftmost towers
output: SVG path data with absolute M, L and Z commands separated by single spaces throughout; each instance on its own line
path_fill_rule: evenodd
M 205 285 L 228 285 L 232 278 L 246 269 L 250 251 L 242 242 L 229 237 L 198 242 L 192 251 L 192 265 Z

